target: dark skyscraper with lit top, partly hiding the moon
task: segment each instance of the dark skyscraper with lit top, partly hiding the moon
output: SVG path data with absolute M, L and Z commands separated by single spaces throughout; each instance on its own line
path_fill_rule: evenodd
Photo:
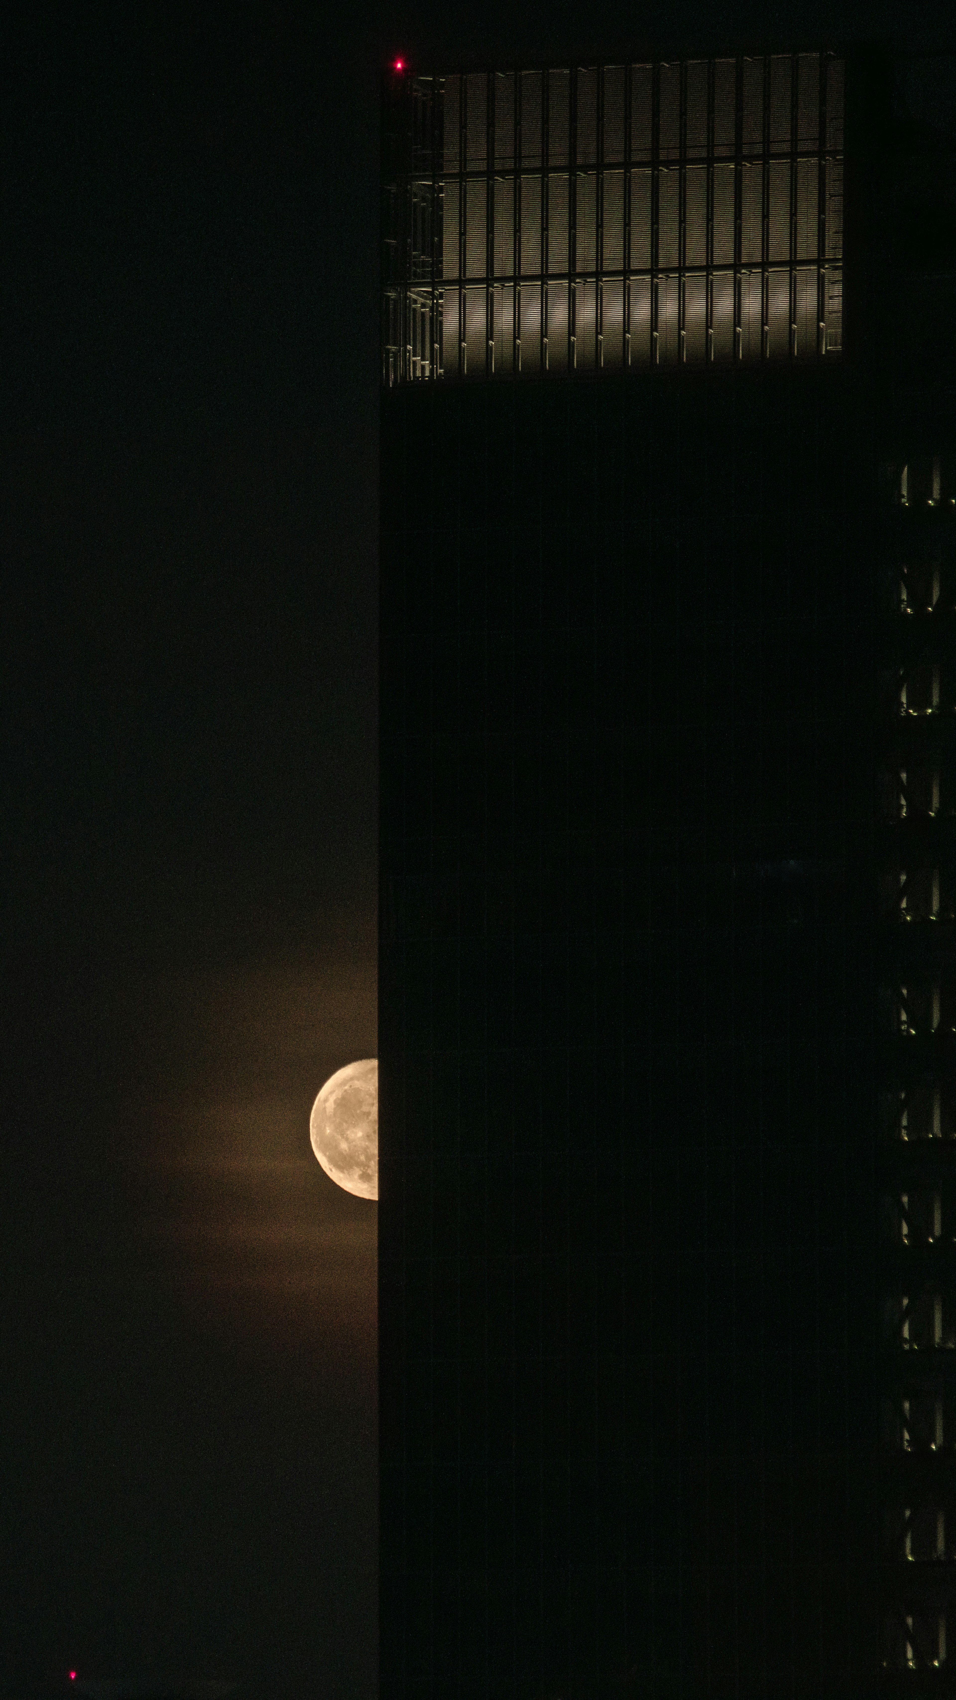
M 956 255 L 898 80 L 385 80 L 384 1700 L 949 1680 Z

